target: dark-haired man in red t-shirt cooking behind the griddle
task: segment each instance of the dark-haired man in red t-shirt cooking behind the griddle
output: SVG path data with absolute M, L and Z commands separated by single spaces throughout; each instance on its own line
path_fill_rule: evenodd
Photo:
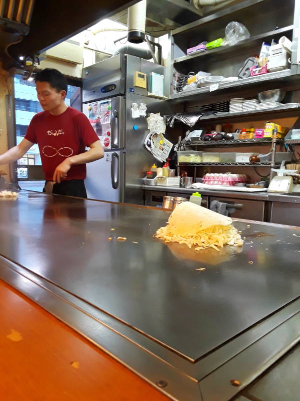
M 44 111 L 32 118 L 24 139 L 0 156 L 0 164 L 20 159 L 37 143 L 46 191 L 51 188 L 53 193 L 86 197 L 85 163 L 104 156 L 99 138 L 87 117 L 64 103 L 67 81 L 59 71 L 46 68 L 34 81 Z

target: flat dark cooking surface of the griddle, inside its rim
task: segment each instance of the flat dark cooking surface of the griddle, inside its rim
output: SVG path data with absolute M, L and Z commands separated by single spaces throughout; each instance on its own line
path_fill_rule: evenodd
M 152 238 L 168 216 L 24 191 L 0 202 L 0 254 L 189 360 L 298 296 L 300 230 L 235 222 L 240 253 L 196 253 Z

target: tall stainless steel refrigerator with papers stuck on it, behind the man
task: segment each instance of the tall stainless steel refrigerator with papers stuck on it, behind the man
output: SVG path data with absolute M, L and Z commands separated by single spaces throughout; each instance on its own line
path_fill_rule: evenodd
M 145 88 L 137 86 L 138 72 L 146 76 Z M 156 160 L 144 147 L 146 117 L 132 118 L 132 103 L 146 104 L 146 115 L 170 113 L 166 100 L 148 96 L 152 72 L 165 75 L 165 67 L 130 55 L 113 56 L 82 71 L 82 112 L 104 148 L 102 159 L 86 164 L 90 199 L 144 204 L 142 178 Z

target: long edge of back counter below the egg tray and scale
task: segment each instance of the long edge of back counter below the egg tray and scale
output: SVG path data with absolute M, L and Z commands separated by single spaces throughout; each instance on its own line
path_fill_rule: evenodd
M 192 193 L 198 191 L 206 196 L 219 196 L 239 199 L 252 199 L 252 200 L 268 200 L 269 202 L 285 202 L 300 204 L 300 193 L 275 193 L 275 192 L 243 192 L 243 191 L 226 191 L 226 190 L 210 190 L 210 189 L 194 189 L 194 188 L 180 188 L 178 186 L 161 186 L 161 185 L 142 185 L 144 190 L 163 191 L 163 192 L 178 192 L 178 193 Z

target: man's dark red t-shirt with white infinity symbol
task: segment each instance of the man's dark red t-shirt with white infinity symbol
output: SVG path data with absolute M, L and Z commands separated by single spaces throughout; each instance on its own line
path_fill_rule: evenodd
M 48 111 L 35 114 L 25 139 L 37 143 L 45 179 L 51 181 L 55 168 L 65 158 L 83 153 L 85 146 L 99 140 L 87 117 L 68 107 L 58 116 Z M 72 165 L 65 179 L 84 179 L 85 164 Z

